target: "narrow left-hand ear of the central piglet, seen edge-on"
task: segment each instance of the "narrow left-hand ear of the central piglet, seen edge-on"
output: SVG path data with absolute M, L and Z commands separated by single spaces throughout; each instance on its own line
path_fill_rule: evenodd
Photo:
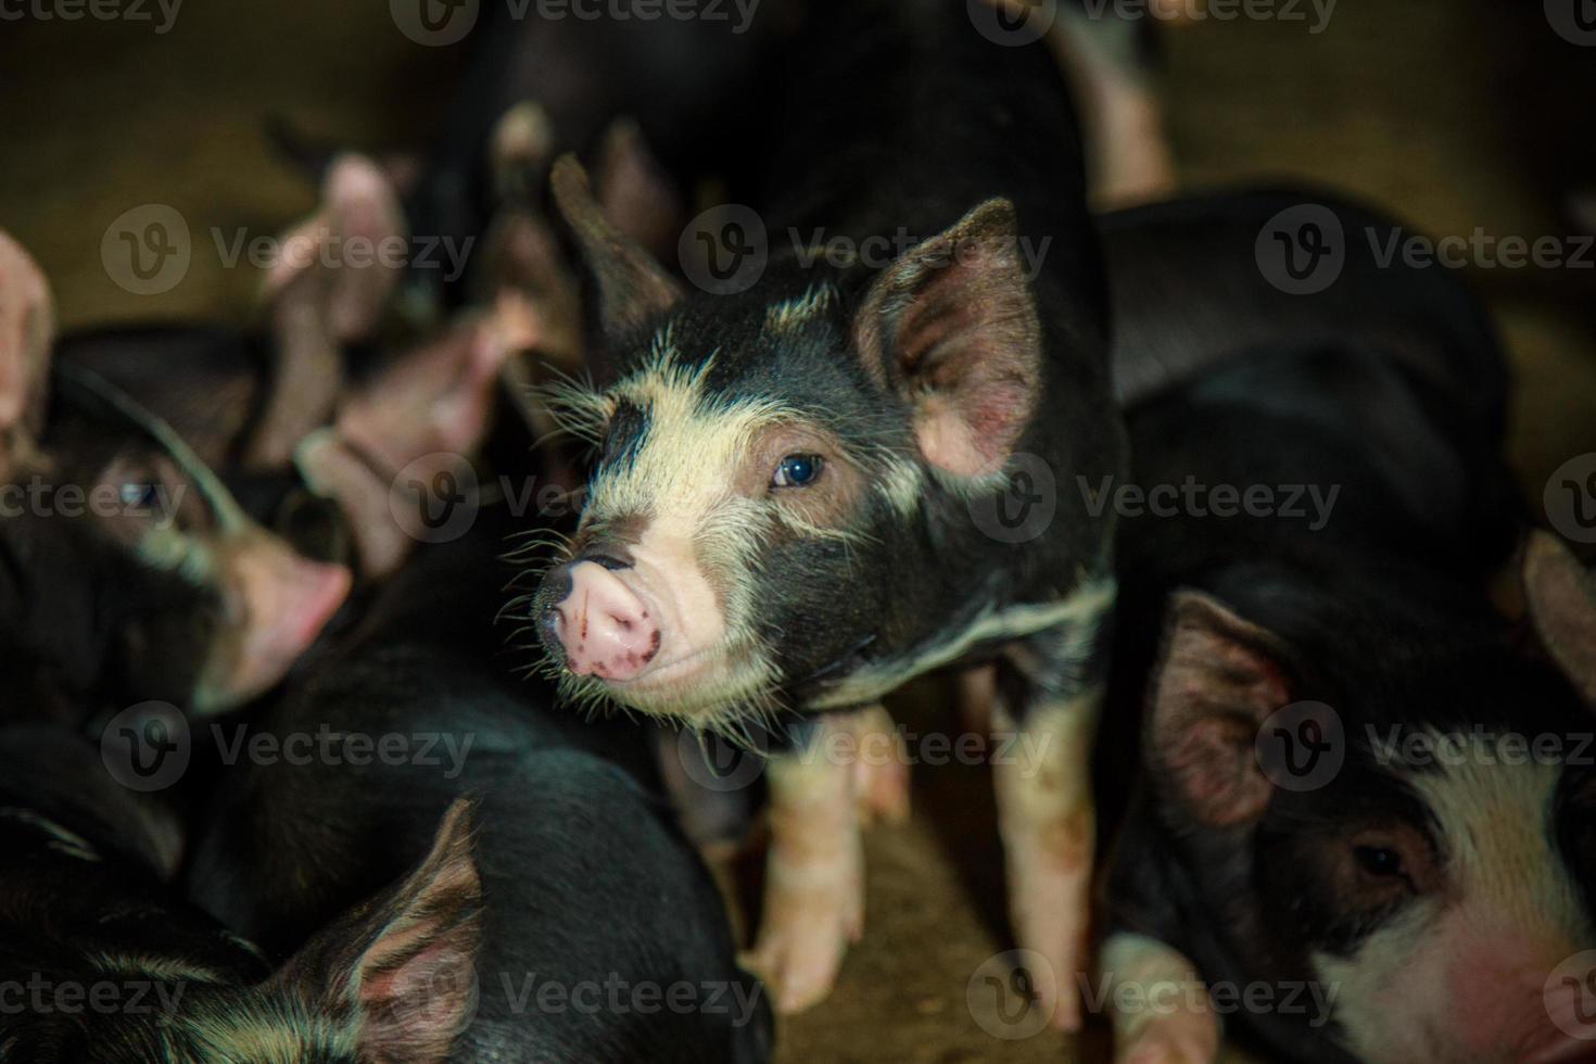
M 605 217 L 575 156 L 554 163 L 549 183 L 597 284 L 598 329 L 606 340 L 642 329 L 681 301 L 681 287 L 670 274 Z

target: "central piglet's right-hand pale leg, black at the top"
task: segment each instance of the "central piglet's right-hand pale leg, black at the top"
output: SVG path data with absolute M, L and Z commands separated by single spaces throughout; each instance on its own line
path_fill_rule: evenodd
M 1015 648 L 1021 692 L 993 711 L 993 782 L 1009 879 L 1009 919 L 1020 946 L 1041 956 L 1037 1000 L 1060 1031 L 1080 1027 L 1077 973 L 1087 960 L 1096 810 L 1092 747 L 1103 689 L 1082 683 L 1093 635 L 1071 629 Z

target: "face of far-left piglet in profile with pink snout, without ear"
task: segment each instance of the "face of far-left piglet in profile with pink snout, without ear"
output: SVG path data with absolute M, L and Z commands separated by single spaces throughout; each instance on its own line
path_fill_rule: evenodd
M 113 700 L 214 711 L 262 694 L 343 603 L 348 569 L 297 555 L 164 424 L 107 405 L 123 397 L 86 381 L 62 381 L 62 410 L 24 485 L 38 487 L 34 512 L 8 534 L 62 558 L 26 598 L 80 606 L 38 606 L 53 613 L 38 627 L 67 646 L 97 643 L 99 660 L 78 676 Z

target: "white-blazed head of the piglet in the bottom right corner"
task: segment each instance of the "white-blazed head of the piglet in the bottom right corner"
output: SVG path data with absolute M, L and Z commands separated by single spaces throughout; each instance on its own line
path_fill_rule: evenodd
M 1505 633 L 1363 635 L 1173 609 L 1148 758 L 1231 928 L 1200 964 L 1318 987 L 1315 1031 L 1373 1064 L 1596 1059 L 1596 716 Z M 1344 763 L 1310 786 L 1258 755 L 1290 703 L 1334 707 Z

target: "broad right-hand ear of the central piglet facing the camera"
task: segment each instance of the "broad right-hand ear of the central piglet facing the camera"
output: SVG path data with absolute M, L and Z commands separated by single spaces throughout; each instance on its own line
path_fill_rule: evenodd
M 996 472 L 1041 392 L 1042 335 L 1013 204 L 988 199 L 878 276 L 857 341 L 867 370 L 915 405 L 932 466 Z

